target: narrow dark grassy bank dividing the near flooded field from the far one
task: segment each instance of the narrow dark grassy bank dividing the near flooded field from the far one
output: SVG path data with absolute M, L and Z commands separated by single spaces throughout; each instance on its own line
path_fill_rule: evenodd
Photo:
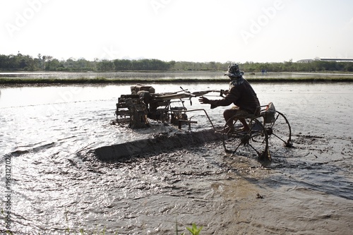
M 353 78 L 246 78 L 251 83 L 347 83 Z M 225 83 L 227 79 L 0 78 L 1 85 L 106 83 Z

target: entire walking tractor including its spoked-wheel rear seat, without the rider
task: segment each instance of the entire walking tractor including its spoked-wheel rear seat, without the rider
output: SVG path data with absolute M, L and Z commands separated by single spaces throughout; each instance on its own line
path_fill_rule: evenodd
M 187 114 L 203 111 L 215 130 L 205 109 L 188 110 L 184 106 L 186 99 L 191 102 L 193 97 L 207 95 L 210 92 L 217 92 L 220 97 L 223 97 L 224 91 L 189 92 L 181 88 L 177 92 L 156 93 L 152 86 L 134 85 L 131 86 L 131 94 L 121 95 L 116 103 L 116 122 L 127 123 L 130 128 L 147 128 L 150 126 L 149 120 L 164 124 L 170 122 L 179 128 L 186 123 L 190 131 L 191 123 L 197 123 L 197 121 L 188 119 Z M 174 106 L 177 103 L 181 106 Z M 220 131 L 215 130 L 220 133 L 226 152 L 232 155 L 256 155 L 259 160 L 270 160 L 269 145 L 292 147 L 289 121 L 284 114 L 275 109 L 272 102 L 258 107 L 256 114 L 258 115 L 234 115 Z M 243 125 L 239 119 L 246 119 L 249 131 L 243 131 Z

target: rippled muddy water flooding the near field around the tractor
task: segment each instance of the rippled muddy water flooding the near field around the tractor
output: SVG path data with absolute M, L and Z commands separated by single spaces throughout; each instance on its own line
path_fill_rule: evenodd
M 295 148 L 270 146 L 268 167 L 255 157 L 226 155 L 220 141 L 100 162 L 97 147 L 175 131 L 111 125 L 117 98 L 129 86 L 1 88 L 1 191 L 5 157 L 11 157 L 15 234 L 64 234 L 68 227 L 90 234 L 176 234 L 176 224 L 181 234 L 192 222 L 203 225 L 201 234 L 351 234 L 351 83 L 253 85 L 261 103 L 274 102 L 293 131 Z M 179 86 L 154 85 L 157 92 Z M 224 108 L 192 103 L 185 101 L 222 126 Z M 198 121 L 193 131 L 210 128 L 202 112 L 189 116 Z

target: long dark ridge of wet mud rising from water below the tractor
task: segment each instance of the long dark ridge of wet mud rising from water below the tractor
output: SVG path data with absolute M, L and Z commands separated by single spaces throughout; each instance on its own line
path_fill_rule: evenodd
M 173 135 L 161 133 L 154 138 L 98 147 L 95 149 L 95 155 L 102 161 L 111 162 L 125 157 L 145 155 L 150 152 L 170 151 L 179 147 L 200 145 L 220 138 L 222 138 L 222 135 L 215 133 L 213 129 L 174 133 Z

